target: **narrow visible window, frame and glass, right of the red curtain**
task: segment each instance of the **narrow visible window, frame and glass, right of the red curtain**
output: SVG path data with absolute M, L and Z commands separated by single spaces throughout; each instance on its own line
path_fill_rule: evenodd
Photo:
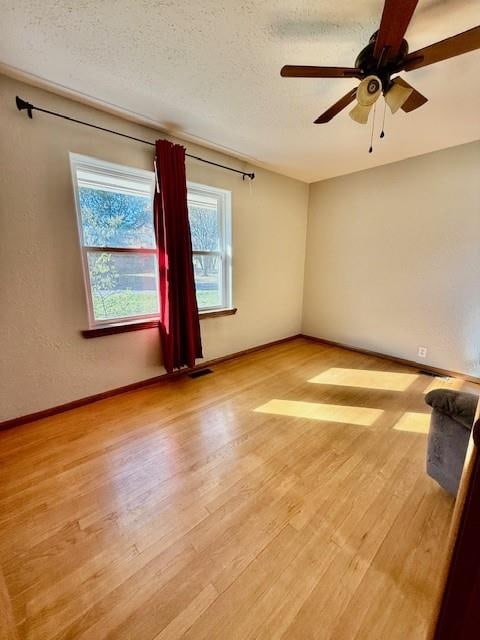
M 231 194 L 188 183 L 188 214 L 200 311 L 231 307 Z

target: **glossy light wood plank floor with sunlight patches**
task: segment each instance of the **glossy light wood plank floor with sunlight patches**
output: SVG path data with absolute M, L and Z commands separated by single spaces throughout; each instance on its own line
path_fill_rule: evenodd
M 1 433 L 19 638 L 423 639 L 441 384 L 297 339 Z

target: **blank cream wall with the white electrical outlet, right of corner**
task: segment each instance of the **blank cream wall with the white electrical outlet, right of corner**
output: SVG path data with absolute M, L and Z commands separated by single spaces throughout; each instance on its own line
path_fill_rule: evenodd
M 480 375 L 479 142 L 310 185 L 303 333 Z

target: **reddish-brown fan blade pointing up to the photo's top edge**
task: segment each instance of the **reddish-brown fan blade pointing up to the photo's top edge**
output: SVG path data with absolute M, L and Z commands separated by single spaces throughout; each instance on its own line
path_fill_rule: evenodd
M 385 0 L 373 49 L 377 60 L 385 63 L 397 57 L 417 4 L 418 0 Z

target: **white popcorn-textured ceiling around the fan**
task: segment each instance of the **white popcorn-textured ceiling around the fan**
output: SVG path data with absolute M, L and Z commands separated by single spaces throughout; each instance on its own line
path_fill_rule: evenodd
M 353 65 L 382 7 L 382 0 L 0 0 L 0 61 L 307 182 L 479 139 L 480 51 L 405 74 L 430 101 L 410 114 L 387 113 L 373 154 L 370 127 L 353 122 L 348 109 L 312 124 L 356 81 L 281 78 L 280 68 Z M 479 0 L 420 0 L 410 50 L 476 26 L 479 15 Z

